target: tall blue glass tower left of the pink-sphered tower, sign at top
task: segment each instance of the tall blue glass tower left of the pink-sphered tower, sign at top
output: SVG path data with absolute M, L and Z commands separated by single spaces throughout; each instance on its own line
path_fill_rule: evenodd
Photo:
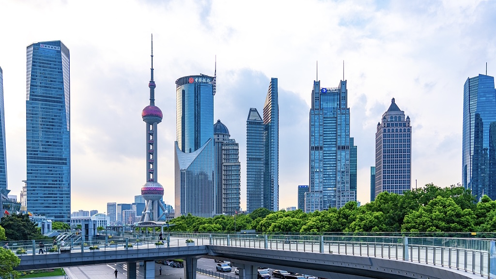
M 69 49 L 51 41 L 26 51 L 27 209 L 70 223 Z

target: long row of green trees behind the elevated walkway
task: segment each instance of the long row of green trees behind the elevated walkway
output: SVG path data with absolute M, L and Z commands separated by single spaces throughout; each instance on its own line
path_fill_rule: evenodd
M 170 221 L 175 231 L 232 232 L 234 216 L 202 218 L 188 214 Z M 236 215 L 236 231 L 275 232 L 495 232 L 496 201 L 488 196 L 478 202 L 460 186 L 383 192 L 375 201 L 358 207 L 349 202 L 340 209 L 305 213 L 302 210 L 256 209 Z

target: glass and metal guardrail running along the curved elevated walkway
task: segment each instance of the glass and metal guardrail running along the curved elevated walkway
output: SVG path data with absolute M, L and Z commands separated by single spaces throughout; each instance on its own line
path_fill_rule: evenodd
M 150 236 L 155 238 L 155 236 Z M 158 240 L 116 239 L 65 243 L 68 252 L 150 249 L 191 245 L 220 245 L 256 249 L 273 249 L 311 253 L 335 253 L 418 262 L 456 268 L 489 278 L 490 262 L 496 264 L 493 240 L 443 237 L 343 236 L 343 235 L 265 235 L 265 234 L 204 234 L 167 233 L 163 245 Z M 193 242 L 189 242 L 192 240 Z M 40 253 L 42 241 L 9 243 L 17 255 Z M 157 244 L 157 245 L 156 245 Z M 0 243 L 0 245 L 2 245 Z M 45 244 L 44 253 L 61 253 L 60 247 Z M 67 248 L 64 248 L 67 250 Z M 491 251 L 493 255 L 491 255 Z

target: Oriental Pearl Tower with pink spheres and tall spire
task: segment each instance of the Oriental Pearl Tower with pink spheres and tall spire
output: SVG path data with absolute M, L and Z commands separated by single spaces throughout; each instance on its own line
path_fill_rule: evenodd
M 141 112 L 146 123 L 146 183 L 141 188 L 141 196 L 145 199 L 145 209 L 141 213 L 140 222 L 158 221 L 166 214 L 160 199 L 164 196 L 164 187 L 157 182 L 157 124 L 162 122 L 162 111 L 155 106 L 155 82 L 153 81 L 153 34 L 152 34 L 152 68 L 148 83 L 150 88 L 150 105 Z M 158 207 L 163 211 L 158 216 Z M 158 216 L 158 218 L 157 218 Z

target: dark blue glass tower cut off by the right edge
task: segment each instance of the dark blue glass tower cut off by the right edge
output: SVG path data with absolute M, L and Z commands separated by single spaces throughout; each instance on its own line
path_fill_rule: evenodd
M 462 181 L 477 198 L 496 199 L 496 89 L 493 76 L 467 78 L 463 87 Z

